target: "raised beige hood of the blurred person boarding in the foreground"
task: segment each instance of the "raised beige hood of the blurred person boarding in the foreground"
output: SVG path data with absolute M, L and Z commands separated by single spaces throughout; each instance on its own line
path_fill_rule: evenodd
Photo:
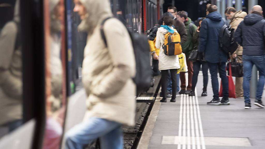
M 91 34 L 105 18 L 112 17 L 109 0 L 81 0 L 87 14 L 78 26 L 78 30 Z

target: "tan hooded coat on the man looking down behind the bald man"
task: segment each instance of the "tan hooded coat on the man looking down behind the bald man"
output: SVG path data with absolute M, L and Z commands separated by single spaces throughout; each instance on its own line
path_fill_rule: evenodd
M 237 29 L 238 25 L 244 20 L 245 16 L 248 15 L 246 12 L 239 10 L 231 18 L 230 24 L 233 29 Z M 243 54 L 243 47 L 238 46 L 237 50 L 234 52 L 237 55 Z

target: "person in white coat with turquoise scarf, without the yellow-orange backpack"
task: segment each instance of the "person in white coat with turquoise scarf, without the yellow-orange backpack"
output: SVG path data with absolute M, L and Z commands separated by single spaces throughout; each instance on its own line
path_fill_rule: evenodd
M 167 91 L 167 75 L 168 75 L 168 70 L 170 70 L 171 73 L 171 80 L 172 80 L 172 98 L 170 102 L 176 102 L 176 86 L 177 86 L 177 80 L 176 80 L 176 75 L 177 75 L 177 69 L 180 68 L 179 65 L 179 59 L 177 55 L 173 56 L 167 56 L 164 53 L 163 45 L 164 45 L 164 40 L 165 40 L 165 34 L 170 32 L 174 33 L 177 32 L 174 28 L 173 25 L 174 20 L 168 16 L 164 17 L 164 22 L 163 25 L 161 25 L 160 28 L 157 30 L 156 34 L 156 47 L 160 47 L 160 53 L 159 53 L 159 63 L 158 63 L 158 69 L 162 73 L 161 77 L 161 82 L 162 82 L 162 93 L 163 98 L 160 100 L 160 102 L 167 102 L 166 100 L 166 91 Z

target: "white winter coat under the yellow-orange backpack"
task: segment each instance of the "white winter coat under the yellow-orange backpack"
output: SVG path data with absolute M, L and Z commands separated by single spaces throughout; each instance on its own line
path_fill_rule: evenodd
M 171 29 L 174 29 L 173 27 L 170 27 Z M 162 45 L 164 45 L 165 40 L 165 34 L 168 32 L 167 29 L 164 27 L 160 27 L 157 30 L 156 33 L 156 47 L 160 47 L 160 53 L 159 53 L 159 63 L 158 63 L 158 69 L 161 70 L 168 70 L 168 69 L 179 69 L 179 58 L 177 55 L 173 56 L 167 56 L 164 53 L 164 49 L 162 48 Z M 177 32 L 175 30 L 175 32 Z

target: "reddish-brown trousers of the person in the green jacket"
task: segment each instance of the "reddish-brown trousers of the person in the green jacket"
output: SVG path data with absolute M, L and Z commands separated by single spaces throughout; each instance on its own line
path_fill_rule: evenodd
M 193 75 L 193 63 L 186 59 L 187 66 L 188 66 L 188 86 L 187 90 L 191 90 L 192 87 L 192 75 Z M 181 81 L 181 89 L 185 90 L 186 89 L 186 79 L 185 79 L 185 72 L 180 72 L 180 81 Z

